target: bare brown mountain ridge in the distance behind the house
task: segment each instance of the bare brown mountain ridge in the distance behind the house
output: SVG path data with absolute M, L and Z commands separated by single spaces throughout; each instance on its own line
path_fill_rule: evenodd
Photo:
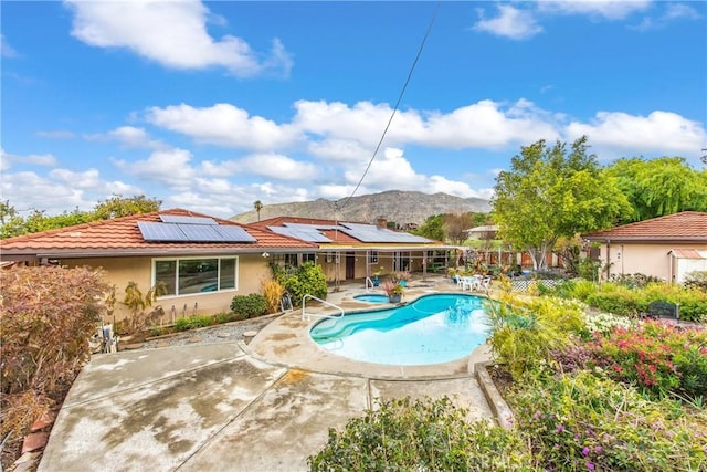
M 434 214 L 469 211 L 488 213 L 490 203 L 482 198 L 461 198 L 441 192 L 429 195 L 419 191 L 390 190 L 352 197 L 348 202 L 346 198 L 336 201 L 319 198 L 313 201 L 275 204 L 263 202 L 260 219 L 299 217 L 374 224 L 379 218 L 384 218 L 389 222 L 404 227 L 410 223 L 422 224 Z M 239 223 L 253 223 L 257 221 L 257 212 L 253 209 L 230 219 Z

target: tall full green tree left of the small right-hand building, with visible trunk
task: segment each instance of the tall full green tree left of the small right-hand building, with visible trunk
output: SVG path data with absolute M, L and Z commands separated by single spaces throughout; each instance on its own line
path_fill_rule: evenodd
M 510 170 L 496 178 L 492 206 L 499 235 L 527 251 L 536 270 L 547 268 L 545 254 L 559 238 L 609 228 L 631 211 L 588 148 L 585 136 L 570 149 L 539 140 L 521 147 Z

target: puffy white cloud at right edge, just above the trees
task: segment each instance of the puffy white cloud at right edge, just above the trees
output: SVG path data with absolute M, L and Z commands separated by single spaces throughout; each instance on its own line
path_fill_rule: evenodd
M 592 146 L 616 153 L 629 150 L 633 155 L 665 153 L 692 156 L 699 153 L 707 140 L 705 128 L 699 123 L 659 111 L 648 116 L 599 112 L 592 123 L 570 123 L 566 134 L 570 140 L 587 135 Z

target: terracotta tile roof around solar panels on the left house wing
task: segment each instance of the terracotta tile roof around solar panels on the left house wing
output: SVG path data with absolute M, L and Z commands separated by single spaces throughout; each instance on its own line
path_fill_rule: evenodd
M 134 214 L 114 220 L 93 221 L 40 233 L 24 234 L 0 241 L 1 255 L 42 254 L 88 256 L 88 255 L 129 255 L 129 254 L 163 254 L 163 253 L 204 253 L 214 250 L 229 252 L 258 252 L 264 249 L 283 250 L 316 250 L 317 245 L 298 239 L 275 234 L 257 228 L 242 225 L 233 221 L 213 218 L 222 225 L 243 228 L 256 242 L 149 242 L 143 239 L 138 229 L 138 221 L 159 222 L 160 214 L 183 217 L 213 218 L 180 208 L 161 210 L 152 213 Z

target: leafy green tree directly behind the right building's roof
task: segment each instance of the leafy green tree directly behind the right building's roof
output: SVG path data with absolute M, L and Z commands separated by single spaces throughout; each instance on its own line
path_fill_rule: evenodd
M 682 157 L 623 158 L 606 167 L 606 174 L 633 207 L 623 222 L 707 211 L 707 169 L 693 169 Z

